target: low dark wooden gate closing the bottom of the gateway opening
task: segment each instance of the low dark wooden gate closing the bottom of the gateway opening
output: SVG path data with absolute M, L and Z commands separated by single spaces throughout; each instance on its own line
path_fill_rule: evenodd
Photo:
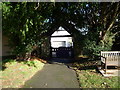
M 52 58 L 73 58 L 72 47 L 51 48 Z

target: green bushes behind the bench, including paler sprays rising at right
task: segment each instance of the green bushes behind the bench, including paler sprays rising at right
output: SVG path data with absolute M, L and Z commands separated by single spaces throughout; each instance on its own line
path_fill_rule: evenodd
M 84 40 L 83 54 L 90 57 L 100 56 L 100 51 L 109 51 L 112 48 L 114 38 L 110 37 L 110 34 L 107 33 L 106 42 L 101 40 L 98 42 L 97 34 L 89 34 Z

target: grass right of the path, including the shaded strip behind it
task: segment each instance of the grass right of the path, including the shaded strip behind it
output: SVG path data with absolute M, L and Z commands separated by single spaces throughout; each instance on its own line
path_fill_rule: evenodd
M 120 88 L 117 76 L 103 77 L 95 66 L 88 63 L 75 63 L 75 65 L 78 67 L 76 71 L 81 88 Z

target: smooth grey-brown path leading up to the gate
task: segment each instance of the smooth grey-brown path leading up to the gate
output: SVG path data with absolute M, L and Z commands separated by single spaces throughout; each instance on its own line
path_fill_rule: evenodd
M 76 73 L 64 64 L 46 64 L 23 88 L 79 88 Z

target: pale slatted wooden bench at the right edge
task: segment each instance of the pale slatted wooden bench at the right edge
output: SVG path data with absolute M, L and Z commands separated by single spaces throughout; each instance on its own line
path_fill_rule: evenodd
M 101 61 L 105 64 L 105 73 L 107 66 L 120 66 L 120 51 L 101 51 Z

